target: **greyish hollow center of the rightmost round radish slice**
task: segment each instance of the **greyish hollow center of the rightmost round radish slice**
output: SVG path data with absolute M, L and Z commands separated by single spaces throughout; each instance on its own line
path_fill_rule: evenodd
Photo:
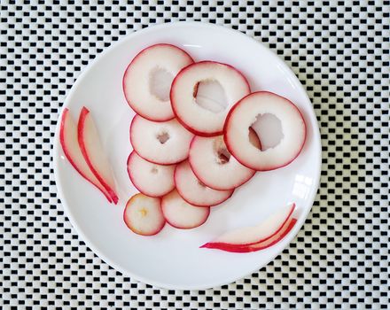
M 277 146 L 283 139 L 282 122 L 274 114 L 259 114 L 252 124 L 261 141 L 261 151 Z

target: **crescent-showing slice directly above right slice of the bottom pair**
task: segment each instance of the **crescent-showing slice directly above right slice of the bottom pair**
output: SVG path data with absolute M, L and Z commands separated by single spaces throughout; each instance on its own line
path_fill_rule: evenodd
M 175 168 L 175 186 L 180 196 L 191 205 L 219 205 L 230 198 L 234 190 L 213 190 L 199 181 L 186 160 Z

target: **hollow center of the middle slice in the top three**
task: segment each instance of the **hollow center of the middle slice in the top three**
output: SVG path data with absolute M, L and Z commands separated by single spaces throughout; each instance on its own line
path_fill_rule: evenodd
M 194 88 L 193 97 L 197 105 L 210 112 L 222 112 L 228 106 L 225 90 L 219 81 L 199 81 Z

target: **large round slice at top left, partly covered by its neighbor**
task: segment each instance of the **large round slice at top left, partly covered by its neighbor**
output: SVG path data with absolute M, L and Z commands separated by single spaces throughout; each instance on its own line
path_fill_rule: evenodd
M 175 75 L 191 63 L 190 55 L 174 45 L 156 44 L 142 50 L 123 76 L 123 92 L 131 108 L 148 120 L 173 119 L 170 86 Z

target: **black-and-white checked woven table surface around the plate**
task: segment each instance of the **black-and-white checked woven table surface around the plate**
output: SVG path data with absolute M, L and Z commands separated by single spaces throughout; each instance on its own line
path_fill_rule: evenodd
M 0 307 L 390 304 L 389 1 L 18 3 L 0 3 Z M 275 51 L 307 89 L 323 143 L 320 189 L 292 244 L 207 291 L 160 290 L 100 260 L 67 220 L 51 164 L 58 112 L 82 69 L 123 36 L 175 20 L 232 27 Z

